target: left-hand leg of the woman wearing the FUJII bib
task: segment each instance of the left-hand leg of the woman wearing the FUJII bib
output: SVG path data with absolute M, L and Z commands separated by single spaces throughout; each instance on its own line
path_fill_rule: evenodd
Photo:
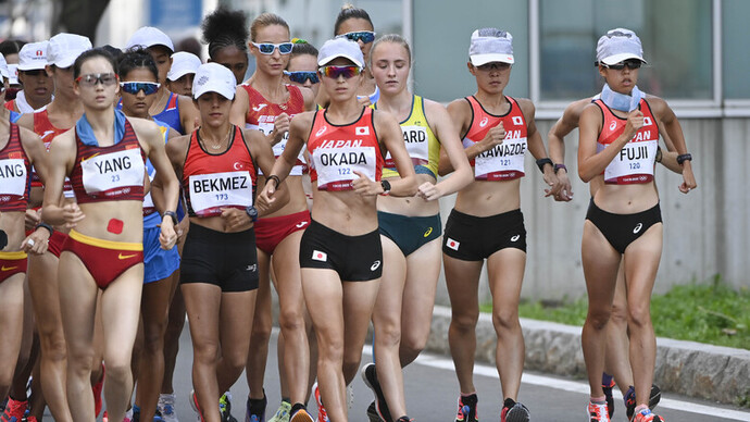
M 591 397 L 604 397 L 601 373 L 604 371 L 607 326 L 612 313 L 612 299 L 617 283 L 621 255 L 591 223 L 584 222 L 580 256 L 588 291 L 588 313 L 580 342 Z

